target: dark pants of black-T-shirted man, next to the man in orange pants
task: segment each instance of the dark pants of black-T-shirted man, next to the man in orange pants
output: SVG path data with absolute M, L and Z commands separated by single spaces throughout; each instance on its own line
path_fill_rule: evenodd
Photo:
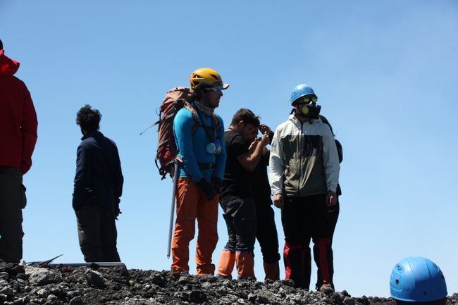
M 252 198 L 230 197 L 220 202 L 228 228 L 229 251 L 252 252 L 256 238 L 256 204 Z

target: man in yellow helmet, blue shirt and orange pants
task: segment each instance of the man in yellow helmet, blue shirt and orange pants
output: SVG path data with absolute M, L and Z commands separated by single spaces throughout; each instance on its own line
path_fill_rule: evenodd
M 211 274 L 215 266 L 211 256 L 218 232 L 218 197 L 222 184 L 226 151 L 223 120 L 215 113 L 223 90 L 229 87 L 211 68 L 199 68 L 190 77 L 193 90 L 191 106 L 197 112 L 197 124 L 190 109 L 183 107 L 173 120 L 173 132 L 182 161 L 177 184 L 177 217 L 172 242 L 172 273 L 189 270 L 189 244 L 197 237 L 197 275 Z

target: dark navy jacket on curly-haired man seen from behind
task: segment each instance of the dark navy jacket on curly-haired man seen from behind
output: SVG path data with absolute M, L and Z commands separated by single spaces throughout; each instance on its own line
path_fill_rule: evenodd
M 81 139 L 76 152 L 73 208 L 91 204 L 114 211 L 119 208 L 124 182 L 118 148 L 98 131 Z

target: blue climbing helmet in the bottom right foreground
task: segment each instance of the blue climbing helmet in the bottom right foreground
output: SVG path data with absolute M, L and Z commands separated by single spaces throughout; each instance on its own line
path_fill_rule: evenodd
M 390 293 L 400 301 L 436 301 L 447 297 L 447 285 L 438 265 L 424 257 L 412 256 L 392 269 Z

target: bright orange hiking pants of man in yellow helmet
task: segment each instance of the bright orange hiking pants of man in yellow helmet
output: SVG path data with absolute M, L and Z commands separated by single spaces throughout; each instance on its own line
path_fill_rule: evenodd
M 178 178 L 177 185 L 177 219 L 172 241 L 171 269 L 175 272 L 190 270 L 190 241 L 194 238 L 195 220 L 198 223 L 196 264 L 197 275 L 215 272 L 215 265 L 211 263 L 211 255 L 218 242 L 218 197 L 211 201 L 206 199 L 191 178 Z

